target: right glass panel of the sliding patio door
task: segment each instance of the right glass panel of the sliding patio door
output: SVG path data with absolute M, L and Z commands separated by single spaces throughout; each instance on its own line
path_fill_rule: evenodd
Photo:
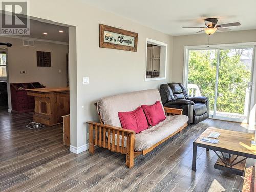
M 247 122 L 252 56 L 252 48 L 220 50 L 217 118 Z

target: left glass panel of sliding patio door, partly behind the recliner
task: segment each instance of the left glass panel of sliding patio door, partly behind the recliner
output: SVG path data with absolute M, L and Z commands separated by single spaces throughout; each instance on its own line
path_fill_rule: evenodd
M 215 101 L 217 53 L 217 49 L 189 50 L 188 52 L 187 90 L 189 97 L 208 97 L 211 116 Z

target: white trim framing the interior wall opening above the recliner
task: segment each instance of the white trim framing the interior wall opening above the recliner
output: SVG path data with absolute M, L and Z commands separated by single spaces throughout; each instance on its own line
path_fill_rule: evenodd
M 146 61 L 147 61 L 147 44 L 154 44 L 154 45 L 158 45 L 158 46 L 165 46 L 166 50 L 165 50 L 165 67 L 164 67 L 164 77 L 155 77 L 155 78 L 146 78 Z M 168 53 L 168 44 L 166 44 L 165 42 L 161 42 L 161 41 L 157 41 L 157 40 L 153 40 L 150 38 L 146 38 L 146 57 L 145 57 L 145 81 L 156 81 L 156 80 L 165 80 L 166 79 L 166 73 L 167 73 L 167 53 Z

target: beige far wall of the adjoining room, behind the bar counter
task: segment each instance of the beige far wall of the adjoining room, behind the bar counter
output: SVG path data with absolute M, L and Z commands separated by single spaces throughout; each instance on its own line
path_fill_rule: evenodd
M 7 48 L 10 83 L 40 82 L 47 87 L 66 86 L 68 45 L 35 41 L 34 47 L 28 47 L 23 46 L 22 39 L 9 37 L 0 37 L 0 41 L 12 44 Z M 51 67 L 37 67 L 36 51 L 51 52 Z M 21 70 L 25 70 L 26 74 L 20 74 Z

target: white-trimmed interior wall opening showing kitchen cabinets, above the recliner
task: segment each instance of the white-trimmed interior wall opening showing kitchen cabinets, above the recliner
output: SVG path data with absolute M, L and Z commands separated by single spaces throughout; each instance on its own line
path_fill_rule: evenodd
M 166 79 L 167 44 L 146 39 L 145 80 Z

